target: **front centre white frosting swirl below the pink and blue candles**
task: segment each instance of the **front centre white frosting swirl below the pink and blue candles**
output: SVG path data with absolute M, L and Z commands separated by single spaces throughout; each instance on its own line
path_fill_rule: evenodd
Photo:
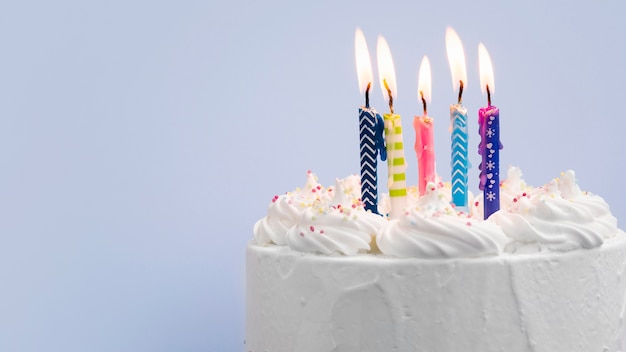
M 457 212 L 449 189 L 430 183 L 406 214 L 376 237 L 383 254 L 424 259 L 497 255 L 508 242 L 495 224 Z

